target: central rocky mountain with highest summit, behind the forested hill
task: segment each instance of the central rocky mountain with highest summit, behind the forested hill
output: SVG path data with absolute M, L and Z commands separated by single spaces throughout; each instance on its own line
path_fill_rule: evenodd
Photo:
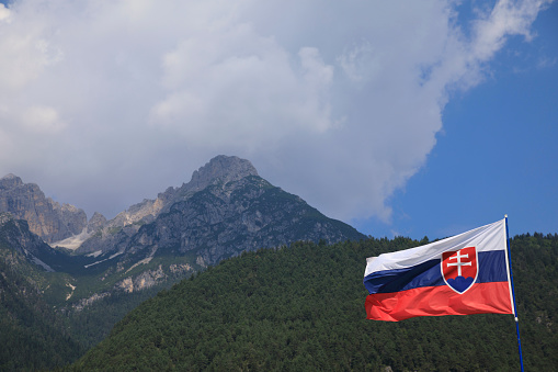
M 189 183 L 118 214 L 82 244 L 76 252 L 95 260 L 79 273 L 91 280 L 78 284 L 76 301 L 175 282 L 244 250 L 363 238 L 262 179 L 250 161 L 218 156 Z

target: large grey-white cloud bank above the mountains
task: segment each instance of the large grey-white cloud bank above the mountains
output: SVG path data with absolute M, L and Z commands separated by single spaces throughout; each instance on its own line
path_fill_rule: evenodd
M 112 217 L 238 155 L 330 216 L 387 222 L 452 92 L 546 5 L 0 3 L 0 176 Z

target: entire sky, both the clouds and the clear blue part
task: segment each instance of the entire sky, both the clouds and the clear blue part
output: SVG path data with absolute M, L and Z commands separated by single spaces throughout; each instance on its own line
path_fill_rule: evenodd
M 558 232 L 556 2 L 2 3 L 0 176 L 88 216 L 225 154 L 373 236 Z

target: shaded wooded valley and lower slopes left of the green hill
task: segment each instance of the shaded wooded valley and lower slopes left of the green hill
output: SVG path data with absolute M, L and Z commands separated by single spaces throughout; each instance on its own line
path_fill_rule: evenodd
M 0 228 L 0 371 L 44 370 L 76 361 L 126 313 L 164 288 L 115 293 L 81 311 L 53 305 L 65 295 L 70 277 L 29 262 L 5 244 L 3 233 Z

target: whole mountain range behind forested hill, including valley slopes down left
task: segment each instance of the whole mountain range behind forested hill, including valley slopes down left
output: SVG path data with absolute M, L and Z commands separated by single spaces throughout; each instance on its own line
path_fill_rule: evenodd
M 190 182 L 111 221 L 95 213 L 71 236 L 34 234 L 50 232 L 57 205 L 36 184 L 13 174 L 0 181 L 0 211 L 12 211 L 0 216 L 9 232 L 5 246 L 29 263 L 19 267 L 26 268 L 22 275 L 36 280 L 36 300 L 66 315 L 69 334 L 86 347 L 104 338 L 141 301 L 224 258 L 296 240 L 365 238 L 270 184 L 250 161 L 228 156 L 213 158 Z M 68 249 L 53 249 L 43 240 Z

